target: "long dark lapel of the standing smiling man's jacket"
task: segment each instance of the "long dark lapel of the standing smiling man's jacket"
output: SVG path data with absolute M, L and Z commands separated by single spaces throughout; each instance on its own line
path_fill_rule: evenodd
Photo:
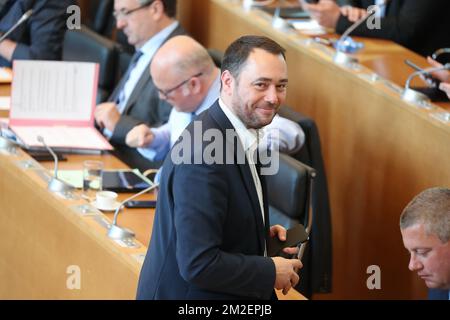
M 216 102 L 210 109 L 209 112 L 211 114 L 211 116 L 214 118 L 214 120 L 216 120 L 216 122 L 221 126 L 222 129 L 222 133 L 225 135 L 225 139 L 227 139 L 227 143 L 231 144 L 233 146 L 233 148 L 227 148 L 225 150 L 225 152 L 227 152 L 227 150 L 234 150 L 234 155 L 233 155 L 233 159 L 234 159 L 234 163 L 238 166 L 240 174 L 241 174 L 241 178 L 242 178 L 242 182 L 245 186 L 245 189 L 251 199 L 251 205 L 253 208 L 253 214 L 255 217 L 255 221 L 256 221 L 256 225 L 258 226 L 259 232 L 258 232 L 258 240 L 259 240 L 259 244 L 260 244 L 260 252 L 264 252 L 264 248 L 265 248 L 265 237 L 261 237 L 261 235 L 265 235 L 266 234 L 266 228 L 264 226 L 264 222 L 262 219 L 262 213 L 261 213 L 261 206 L 259 205 L 259 199 L 258 199 L 258 194 L 256 192 L 256 186 L 255 186 L 255 182 L 253 180 L 253 176 L 252 173 L 250 171 L 250 166 L 248 164 L 247 158 L 245 157 L 245 163 L 239 163 L 238 162 L 238 158 L 237 155 L 240 154 L 244 154 L 244 148 L 242 146 L 242 143 L 240 141 L 239 138 L 236 138 L 237 141 L 231 141 L 228 140 L 229 138 L 226 136 L 226 130 L 234 130 L 233 125 L 231 124 L 230 120 L 228 120 L 227 116 L 223 113 L 222 109 L 219 106 L 219 103 Z M 242 162 L 242 161 L 241 161 Z M 263 181 L 261 181 L 261 184 L 263 184 Z M 264 196 L 264 187 L 263 187 L 263 202 L 264 202 L 264 210 L 265 210 L 265 217 L 264 219 L 266 220 L 266 222 L 268 222 L 267 220 L 267 210 L 266 210 L 266 201 L 264 200 L 266 199 L 266 197 Z

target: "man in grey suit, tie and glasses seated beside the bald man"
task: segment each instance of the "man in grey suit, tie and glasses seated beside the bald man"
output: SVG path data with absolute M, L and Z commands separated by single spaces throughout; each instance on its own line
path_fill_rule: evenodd
M 175 20 L 176 4 L 176 0 L 114 1 L 117 28 L 136 53 L 108 102 L 97 106 L 95 120 L 116 147 L 116 155 L 131 167 L 148 169 L 148 161 L 126 146 L 127 133 L 142 123 L 160 126 L 169 118 L 171 106 L 159 99 L 148 68 L 164 42 L 185 33 Z

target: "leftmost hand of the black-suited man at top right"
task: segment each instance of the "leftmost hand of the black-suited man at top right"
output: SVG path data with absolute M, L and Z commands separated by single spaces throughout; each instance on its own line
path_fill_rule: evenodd
M 335 29 L 341 15 L 339 6 L 333 0 L 320 0 L 316 4 L 300 0 L 303 10 L 309 12 L 311 18 L 316 20 L 322 27 Z

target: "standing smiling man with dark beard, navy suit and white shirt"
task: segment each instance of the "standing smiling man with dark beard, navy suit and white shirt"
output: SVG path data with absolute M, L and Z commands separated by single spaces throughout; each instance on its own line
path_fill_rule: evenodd
M 286 97 L 284 49 L 265 37 L 238 39 L 221 83 L 219 101 L 164 162 L 138 299 L 270 299 L 298 283 L 298 259 L 265 254 L 269 237 L 285 240 L 286 230 L 270 227 L 265 168 L 252 161 L 258 129 Z

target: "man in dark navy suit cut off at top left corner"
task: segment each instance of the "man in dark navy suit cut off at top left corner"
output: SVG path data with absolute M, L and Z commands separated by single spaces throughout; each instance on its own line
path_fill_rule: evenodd
M 60 60 L 67 7 L 74 0 L 0 0 L 0 32 L 7 32 L 28 10 L 33 14 L 0 43 L 0 66 L 13 60 Z

